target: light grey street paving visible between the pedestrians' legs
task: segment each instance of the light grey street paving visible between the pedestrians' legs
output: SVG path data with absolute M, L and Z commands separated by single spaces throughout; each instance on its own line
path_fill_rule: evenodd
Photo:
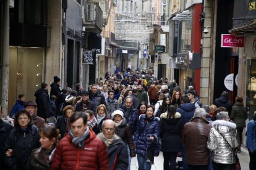
M 239 161 L 241 164 L 242 170 L 249 170 L 249 153 L 246 148 L 241 148 L 241 153 L 238 153 Z M 181 160 L 181 158 L 177 158 Z M 130 163 L 130 170 L 137 170 L 139 168 L 137 158 L 132 158 Z M 155 157 L 155 164 L 152 165 L 151 170 L 163 170 L 163 153 L 160 152 L 158 157 Z

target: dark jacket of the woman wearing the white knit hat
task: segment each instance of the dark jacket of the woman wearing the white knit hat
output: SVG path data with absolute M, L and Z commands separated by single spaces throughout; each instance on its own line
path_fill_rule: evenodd
M 130 129 L 129 124 L 127 124 L 126 118 L 122 119 L 122 123 L 116 127 L 117 136 L 126 143 L 130 149 L 130 157 L 135 157 L 135 145 L 134 140 L 132 139 L 132 129 Z

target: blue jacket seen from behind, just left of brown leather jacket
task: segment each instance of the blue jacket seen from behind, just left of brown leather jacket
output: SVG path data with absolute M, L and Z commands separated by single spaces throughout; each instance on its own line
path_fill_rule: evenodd
M 195 113 L 195 104 L 194 103 L 184 103 L 179 105 L 177 112 L 181 113 L 182 123 L 186 124 L 190 122 Z

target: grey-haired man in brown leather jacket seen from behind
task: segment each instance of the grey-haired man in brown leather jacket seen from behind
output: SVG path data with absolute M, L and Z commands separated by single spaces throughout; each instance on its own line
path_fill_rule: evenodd
M 206 115 L 204 108 L 197 108 L 191 121 L 184 125 L 182 141 L 186 147 L 188 169 L 208 169 L 210 154 L 207 140 L 211 126 L 205 119 Z

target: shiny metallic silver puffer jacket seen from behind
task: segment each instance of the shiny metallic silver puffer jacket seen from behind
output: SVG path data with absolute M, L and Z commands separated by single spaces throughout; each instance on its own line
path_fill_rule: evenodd
M 229 144 L 223 139 L 221 134 Z M 221 164 L 235 163 L 236 157 L 232 148 L 236 148 L 239 145 L 236 137 L 236 124 L 224 120 L 213 121 L 207 142 L 207 148 L 213 150 L 212 160 Z

